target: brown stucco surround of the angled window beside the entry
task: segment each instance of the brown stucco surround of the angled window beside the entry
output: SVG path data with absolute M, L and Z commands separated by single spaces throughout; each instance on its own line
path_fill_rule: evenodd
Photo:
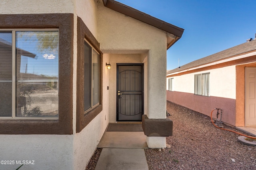
M 84 112 L 84 39 L 100 53 L 100 104 L 95 108 Z M 76 133 L 82 131 L 96 115 L 102 111 L 102 62 L 103 54 L 100 51 L 100 43 L 81 18 L 77 19 L 77 104 L 76 104 Z

